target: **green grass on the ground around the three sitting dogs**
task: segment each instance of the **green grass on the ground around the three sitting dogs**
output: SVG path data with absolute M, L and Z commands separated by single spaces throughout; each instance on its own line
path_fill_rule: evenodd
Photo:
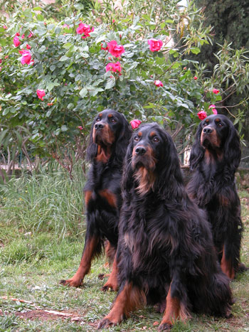
M 95 331 L 97 321 L 110 310 L 115 293 L 102 292 L 105 280 L 97 278 L 108 272 L 103 257 L 93 262 L 83 287 L 59 284 L 60 279 L 73 276 L 83 250 L 84 176 L 80 168 L 73 176 L 70 181 L 59 169 L 53 173 L 43 170 L 1 187 L 0 332 Z M 245 225 L 241 258 L 249 266 L 249 193 L 240 191 L 240 199 Z M 232 318 L 193 315 L 186 324 L 176 323 L 172 331 L 249 331 L 248 284 L 249 272 L 231 282 L 236 299 Z M 45 309 L 78 318 L 52 316 Z M 108 331 L 157 331 L 153 323 L 161 317 L 149 306 Z

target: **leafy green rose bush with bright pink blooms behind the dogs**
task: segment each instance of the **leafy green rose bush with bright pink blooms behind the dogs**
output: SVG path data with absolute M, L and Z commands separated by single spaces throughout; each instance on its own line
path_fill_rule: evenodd
M 184 58 L 210 39 L 192 4 L 96 4 L 84 17 L 74 1 L 64 3 L 60 21 L 31 1 L 0 18 L 0 144 L 16 141 L 20 149 L 25 141 L 33 154 L 55 159 L 80 146 L 84 156 L 92 117 L 107 107 L 129 121 L 157 121 L 182 139 L 196 129 L 199 111 L 212 114 L 216 105 L 219 112 L 222 75 L 205 78 Z M 176 36 L 181 47 L 171 42 Z

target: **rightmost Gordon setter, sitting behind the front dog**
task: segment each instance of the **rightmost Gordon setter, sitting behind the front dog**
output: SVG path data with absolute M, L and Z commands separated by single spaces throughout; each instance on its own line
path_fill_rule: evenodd
M 230 279 L 246 269 L 240 263 L 243 225 L 235 186 L 240 155 L 240 139 L 228 117 L 218 114 L 203 119 L 189 159 L 194 173 L 187 191 L 208 213 L 221 269 Z

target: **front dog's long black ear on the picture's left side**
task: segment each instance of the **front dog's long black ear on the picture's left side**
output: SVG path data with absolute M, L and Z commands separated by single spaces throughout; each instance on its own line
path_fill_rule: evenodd
M 121 183 L 123 199 L 129 196 L 129 191 L 133 186 L 132 151 L 133 151 L 133 141 L 130 141 L 127 147 L 126 155 L 124 158 L 124 165 L 123 165 L 123 175 Z

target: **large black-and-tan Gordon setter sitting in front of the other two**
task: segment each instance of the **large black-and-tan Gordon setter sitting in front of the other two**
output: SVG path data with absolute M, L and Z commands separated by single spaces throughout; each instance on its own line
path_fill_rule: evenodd
M 231 289 L 221 271 L 205 211 L 184 188 L 176 148 L 158 124 L 132 135 L 124 159 L 117 247 L 120 289 L 99 323 L 120 323 L 142 304 L 166 309 L 159 331 L 190 311 L 229 316 Z

